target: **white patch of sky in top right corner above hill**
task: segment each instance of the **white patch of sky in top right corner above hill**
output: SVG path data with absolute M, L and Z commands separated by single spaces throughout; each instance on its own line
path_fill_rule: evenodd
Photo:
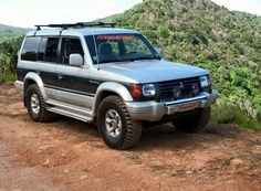
M 231 11 L 244 11 L 261 15 L 261 0 L 212 0 L 217 4 L 225 6 Z

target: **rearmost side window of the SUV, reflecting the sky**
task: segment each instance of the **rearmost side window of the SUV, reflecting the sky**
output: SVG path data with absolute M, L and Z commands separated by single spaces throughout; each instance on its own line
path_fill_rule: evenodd
M 36 61 L 38 50 L 41 42 L 41 38 L 27 38 L 22 47 L 21 60 L 24 61 Z

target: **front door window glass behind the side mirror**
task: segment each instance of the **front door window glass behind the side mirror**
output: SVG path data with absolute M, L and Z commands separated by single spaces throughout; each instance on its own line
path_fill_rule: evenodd
M 61 50 L 62 64 L 69 64 L 70 54 L 81 54 L 82 56 L 84 56 L 80 39 L 63 38 Z

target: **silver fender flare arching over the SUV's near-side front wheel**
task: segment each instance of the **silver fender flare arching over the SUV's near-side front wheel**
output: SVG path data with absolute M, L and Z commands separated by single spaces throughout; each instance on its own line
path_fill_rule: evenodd
M 125 86 L 115 82 L 105 82 L 98 86 L 97 92 L 95 94 L 93 110 L 92 110 L 93 117 L 95 117 L 96 115 L 98 104 L 101 103 L 103 93 L 105 92 L 117 94 L 119 97 L 122 97 L 124 102 L 133 102 L 133 97 Z

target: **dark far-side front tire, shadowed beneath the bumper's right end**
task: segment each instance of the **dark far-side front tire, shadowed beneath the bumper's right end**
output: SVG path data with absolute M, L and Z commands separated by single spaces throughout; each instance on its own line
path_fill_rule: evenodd
M 199 110 L 197 114 L 190 117 L 182 117 L 177 120 L 173 120 L 173 125 L 177 128 L 177 130 L 182 132 L 197 132 L 200 129 L 203 129 L 210 119 L 211 108 L 205 108 Z

